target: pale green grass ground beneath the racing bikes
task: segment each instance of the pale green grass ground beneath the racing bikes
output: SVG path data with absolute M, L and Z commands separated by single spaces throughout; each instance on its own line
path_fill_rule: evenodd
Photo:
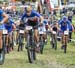
M 28 63 L 27 52 L 17 52 L 17 46 L 10 54 L 6 54 L 5 63 L 0 68 L 75 68 L 75 43 L 69 43 L 67 53 L 64 54 L 60 49 L 55 51 L 51 48 L 50 43 L 45 46 L 44 54 L 37 54 L 37 60 Z

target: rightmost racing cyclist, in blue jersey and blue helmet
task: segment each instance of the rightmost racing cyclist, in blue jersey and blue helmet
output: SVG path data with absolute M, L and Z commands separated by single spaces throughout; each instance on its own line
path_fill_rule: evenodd
M 62 49 L 64 47 L 64 31 L 69 31 L 70 26 L 72 26 L 71 22 L 68 20 L 66 16 L 62 17 L 62 20 L 59 22 L 60 30 L 62 32 Z M 67 40 L 68 41 L 68 40 Z

